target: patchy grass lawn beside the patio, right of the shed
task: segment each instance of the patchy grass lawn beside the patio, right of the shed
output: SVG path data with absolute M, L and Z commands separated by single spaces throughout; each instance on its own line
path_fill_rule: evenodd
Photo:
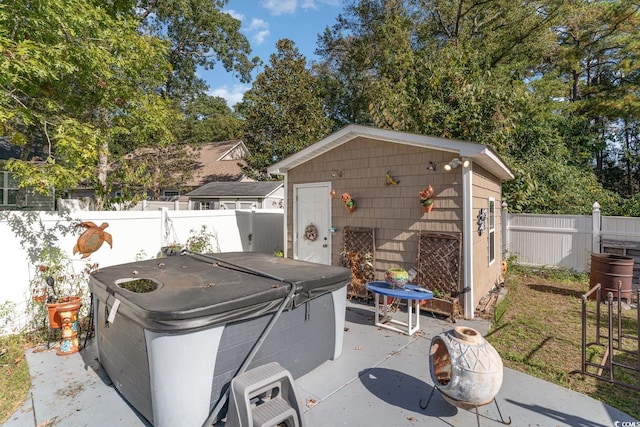
M 495 308 L 494 322 L 487 335 L 505 366 L 586 394 L 640 419 L 640 392 L 571 373 L 581 367 L 581 295 L 589 289 L 588 276 L 516 267 L 510 268 L 505 285 L 506 297 Z M 588 302 L 587 307 L 587 342 L 593 342 L 595 302 Z M 606 306 L 602 305 L 604 326 L 606 313 Z M 636 336 L 636 316 L 635 310 L 623 311 L 624 333 Z M 623 350 L 637 349 L 637 341 L 623 339 L 622 342 Z M 637 353 L 615 351 L 614 354 L 616 361 L 638 366 Z M 588 360 L 601 363 L 604 349 L 590 346 L 587 355 Z M 588 371 L 595 373 L 596 369 Z M 638 374 L 632 371 L 614 368 L 614 377 L 640 386 Z

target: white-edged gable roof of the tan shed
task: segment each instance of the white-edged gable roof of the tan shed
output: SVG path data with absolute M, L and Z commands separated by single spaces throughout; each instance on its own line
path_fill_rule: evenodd
M 358 137 L 447 151 L 472 160 L 500 179 L 507 180 L 514 178 L 511 169 L 493 149 L 486 145 L 361 125 L 348 125 L 315 144 L 271 165 L 267 171 L 275 175 L 284 175 L 289 169 L 306 163 Z

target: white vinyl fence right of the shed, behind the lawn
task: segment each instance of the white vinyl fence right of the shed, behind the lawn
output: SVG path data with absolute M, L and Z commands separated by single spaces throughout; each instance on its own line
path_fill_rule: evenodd
M 510 214 L 503 206 L 504 258 L 518 264 L 588 272 L 591 253 L 630 256 L 640 262 L 640 218 L 592 215 Z

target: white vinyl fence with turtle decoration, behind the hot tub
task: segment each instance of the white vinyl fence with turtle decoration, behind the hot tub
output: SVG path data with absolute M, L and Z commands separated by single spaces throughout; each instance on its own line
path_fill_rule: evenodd
M 72 254 L 84 228 L 80 222 L 107 223 L 106 232 L 113 238 L 82 260 Z M 81 271 L 87 261 L 100 267 L 155 258 L 162 246 L 184 244 L 202 226 L 214 237 L 215 252 L 273 253 L 283 249 L 282 209 L 211 210 L 211 211 L 74 211 L 64 215 L 44 212 L 0 212 L 0 330 L 15 331 L 24 326 L 21 314 L 29 296 L 29 282 L 38 267 L 30 260 L 28 248 L 34 243 L 54 242 L 73 259 L 74 271 Z M 12 306 L 15 316 L 7 316 Z M 7 319 L 7 317 L 10 317 Z M 3 325 L 2 321 L 11 323 Z M 5 329 L 6 330 L 6 329 Z

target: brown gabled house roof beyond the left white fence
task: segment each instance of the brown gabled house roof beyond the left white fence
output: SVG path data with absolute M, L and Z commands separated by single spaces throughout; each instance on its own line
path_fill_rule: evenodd
M 244 164 L 249 154 L 241 140 L 218 141 L 193 149 L 196 170 L 185 182 L 186 187 L 198 187 L 208 182 L 239 181 L 244 176 L 238 163 Z

